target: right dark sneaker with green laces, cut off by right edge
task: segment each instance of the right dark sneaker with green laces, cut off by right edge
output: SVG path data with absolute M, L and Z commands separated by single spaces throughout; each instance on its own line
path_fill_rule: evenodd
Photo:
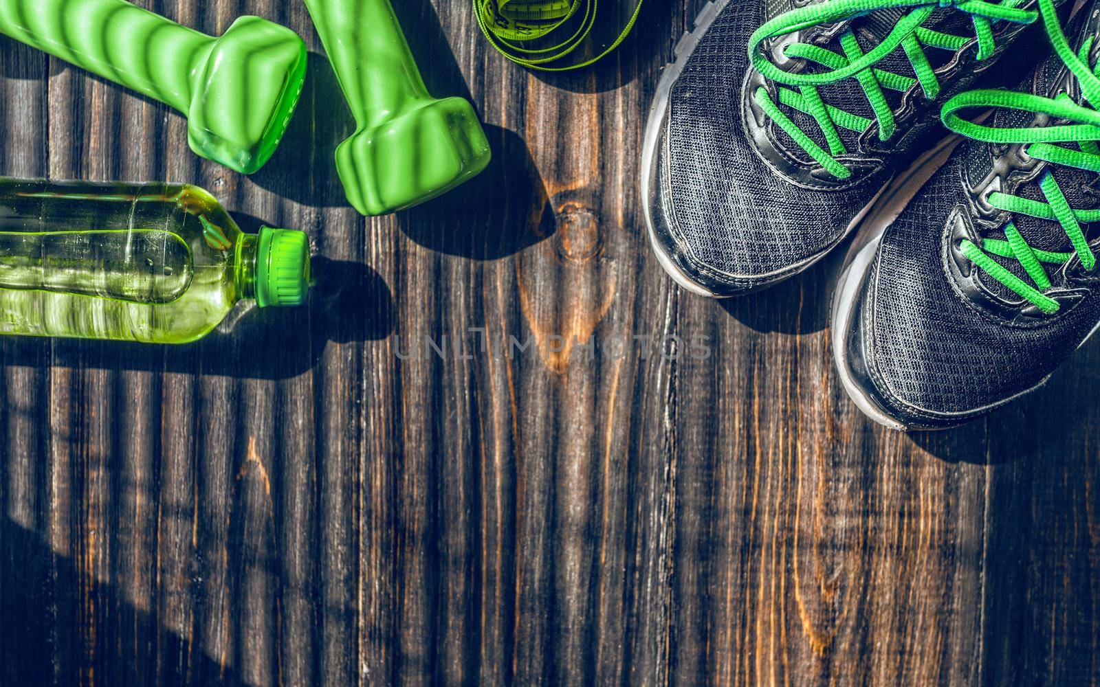
M 836 292 L 844 386 L 895 429 L 959 424 L 1042 385 L 1100 323 L 1100 12 L 1020 91 L 944 106 L 970 141 L 892 222 L 868 221 Z M 994 108 L 983 124 L 977 118 Z

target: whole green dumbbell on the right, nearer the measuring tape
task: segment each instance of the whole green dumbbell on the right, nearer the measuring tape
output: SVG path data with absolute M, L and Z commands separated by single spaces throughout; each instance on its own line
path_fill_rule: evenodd
M 337 148 L 366 215 L 409 208 L 477 175 L 491 153 L 473 107 L 428 95 L 389 0 L 306 0 L 356 132 Z

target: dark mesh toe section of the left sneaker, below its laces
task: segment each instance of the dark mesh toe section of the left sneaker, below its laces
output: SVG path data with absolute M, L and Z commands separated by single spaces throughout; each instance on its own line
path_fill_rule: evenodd
M 734 0 L 715 20 L 672 89 L 667 132 L 676 228 L 695 259 L 743 275 L 780 269 L 831 245 L 881 186 L 798 188 L 750 147 L 741 90 L 747 40 L 759 25 L 748 18 L 759 12 L 758 2 Z

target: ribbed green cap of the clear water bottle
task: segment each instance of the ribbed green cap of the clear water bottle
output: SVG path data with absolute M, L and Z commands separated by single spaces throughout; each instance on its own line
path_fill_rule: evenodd
M 292 229 L 260 230 L 256 251 L 256 302 L 300 306 L 309 293 L 309 236 Z

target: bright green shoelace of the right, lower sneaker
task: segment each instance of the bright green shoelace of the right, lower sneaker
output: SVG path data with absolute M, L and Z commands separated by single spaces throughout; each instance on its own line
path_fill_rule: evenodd
M 1100 69 L 1089 67 L 1089 49 L 1092 37 L 1085 41 L 1080 53 L 1075 54 L 1058 22 L 1057 11 L 1052 0 L 1038 0 L 1040 13 L 1046 33 L 1058 57 L 1066 64 L 1081 86 L 1085 100 L 1091 106 L 1100 104 Z M 1048 126 L 996 129 L 976 124 L 958 115 L 964 109 L 990 108 L 1019 110 L 1046 114 L 1052 121 L 1062 122 Z M 986 143 L 1026 145 L 1025 153 L 1035 159 L 1052 165 L 1063 165 L 1086 171 L 1100 173 L 1100 112 L 1093 107 L 1075 102 L 1066 93 L 1056 98 L 1045 98 L 1033 93 L 1009 90 L 974 90 L 960 93 L 944 104 L 944 124 L 952 131 L 968 138 Z M 1059 145 L 1063 144 L 1063 145 Z M 1067 146 L 1076 146 L 1067 147 Z M 1057 221 L 1066 231 L 1074 246 L 1071 252 L 1041 251 L 1032 247 L 1021 236 L 1011 221 L 1004 229 L 1004 240 L 983 239 L 979 248 L 970 241 L 961 243 L 963 254 L 990 277 L 1000 281 L 1042 312 L 1053 314 L 1058 311 L 1058 301 L 1043 291 L 1050 288 L 1050 279 L 1043 264 L 1065 265 L 1077 255 L 1081 265 L 1091 270 L 1097 257 L 1089 247 L 1081 230 L 1081 223 L 1100 221 L 1100 210 L 1078 210 L 1070 208 L 1053 169 L 1046 169 L 1040 180 L 1040 188 L 1046 202 L 1011 196 L 996 191 L 990 193 L 989 203 L 998 210 L 1026 215 L 1040 220 Z M 1034 286 L 1018 277 L 990 254 L 1018 261 Z

